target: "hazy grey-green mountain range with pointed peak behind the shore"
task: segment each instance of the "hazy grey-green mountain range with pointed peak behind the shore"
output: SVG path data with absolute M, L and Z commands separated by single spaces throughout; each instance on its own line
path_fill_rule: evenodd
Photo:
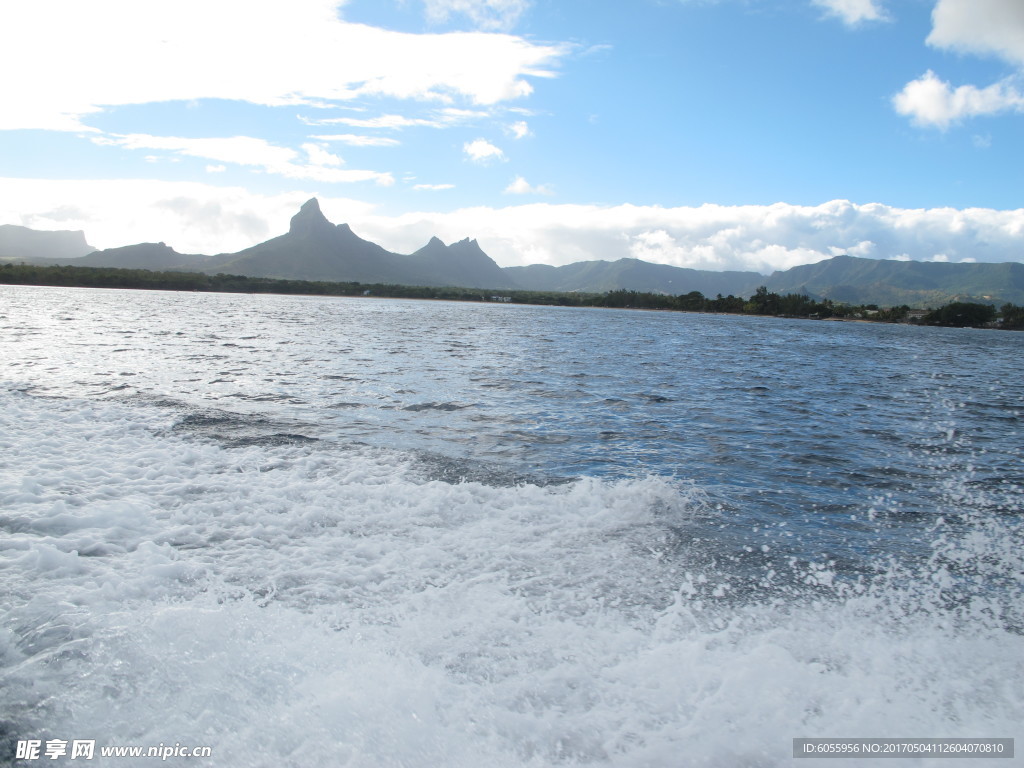
M 501 267 L 475 240 L 445 245 L 437 238 L 415 253 L 398 254 L 359 238 L 348 224 L 331 223 L 315 198 L 292 217 L 288 232 L 238 253 L 182 254 L 164 243 L 96 251 L 81 231 L 2 225 L 0 261 L 487 290 L 604 293 L 625 289 L 671 295 L 699 291 L 709 297 L 746 297 L 765 286 L 777 294 L 801 293 L 850 304 L 1024 304 L 1024 264 L 1018 262 L 949 264 L 836 256 L 770 275 L 689 269 L 640 259 Z

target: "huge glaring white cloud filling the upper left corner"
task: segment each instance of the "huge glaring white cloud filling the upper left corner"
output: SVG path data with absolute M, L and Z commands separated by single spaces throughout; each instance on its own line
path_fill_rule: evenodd
M 494 104 L 528 95 L 525 78 L 552 76 L 551 67 L 568 51 L 512 35 L 414 35 L 350 24 L 339 18 L 339 0 L 5 5 L 0 129 L 90 130 L 89 116 L 105 106 L 204 98 L 323 106 L 382 95 Z

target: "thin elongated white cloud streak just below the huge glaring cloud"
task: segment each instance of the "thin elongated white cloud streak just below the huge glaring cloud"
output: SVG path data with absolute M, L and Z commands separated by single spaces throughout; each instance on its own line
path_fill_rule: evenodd
M 95 136 L 92 141 L 97 144 L 117 145 L 128 150 L 166 150 L 178 155 L 214 160 L 219 163 L 254 166 L 266 173 L 287 178 L 311 179 L 332 183 L 350 181 L 375 181 L 383 185 L 394 183 L 394 178 L 390 173 L 338 168 L 342 164 L 341 158 L 314 143 L 302 145 L 308 159 L 308 163 L 303 164 L 297 162 L 300 155 L 295 150 L 278 146 L 252 136 L 180 138 L 133 133 Z

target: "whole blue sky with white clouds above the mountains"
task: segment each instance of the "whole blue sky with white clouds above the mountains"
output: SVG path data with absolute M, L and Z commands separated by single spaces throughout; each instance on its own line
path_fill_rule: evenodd
M 0 223 L 502 266 L 1024 261 L 1022 0 L 12 0 Z

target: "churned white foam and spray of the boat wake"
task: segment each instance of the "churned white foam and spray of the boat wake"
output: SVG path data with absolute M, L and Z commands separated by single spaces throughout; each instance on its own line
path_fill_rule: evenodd
M 449 484 L 384 451 L 184 439 L 171 410 L 0 399 L 16 737 L 369 767 L 773 766 L 796 736 L 1024 735 L 1024 638 L 980 596 L 942 608 L 952 545 L 935 585 L 842 594 L 817 568 L 816 602 L 730 603 L 685 589 L 710 574 L 664 531 L 699 500 L 664 479 Z M 968 546 L 1006 566 L 1008 529 L 976 522 Z

